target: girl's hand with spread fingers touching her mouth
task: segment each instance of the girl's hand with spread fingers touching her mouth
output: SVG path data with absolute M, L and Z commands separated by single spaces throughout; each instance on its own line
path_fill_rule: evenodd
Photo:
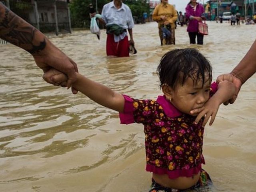
M 200 119 L 202 117 L 204 117 L 204 121 L 202 123 L 202 126 L 204 127 L 206 125 L 206 123 L 208 122 L 209 118 L 211 117 L 211 120 L 210 120 L 210 123 L 209 123 L 209 125 L 211 126 L 212 123 L 215 120 L 215 117 L 216 117 L 216 114 L 218 112 L 219 106 L 220 106 L 220 103 L 218 101 L 214 100 L 214 98 L 210 98 L 208 100 L 208 102 L 206 102 L 204 107 L 200 108 L 202 110 L 198 114 L 198 116 L 196 117 L 196 120 L 194 121 L 194 124 L 198 124 Z

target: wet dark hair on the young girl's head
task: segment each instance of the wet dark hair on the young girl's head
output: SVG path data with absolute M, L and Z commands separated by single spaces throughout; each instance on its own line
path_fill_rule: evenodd
M 210 62 L 196 49 L 185 48 L 167 52 L 160 60 L 157 68 L 160 78 L 160 88 L 167 84 L 172 89 L 180 83 L 182 86 L 188 77 L 194 84 L 198 80 L 209 83 L 212 81 L 212 66 Z

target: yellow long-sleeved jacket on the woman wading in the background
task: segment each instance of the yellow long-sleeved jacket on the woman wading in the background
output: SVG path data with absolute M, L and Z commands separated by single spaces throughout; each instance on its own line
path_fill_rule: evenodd
M 166 16 L 167 20 L 170 22 L 172 29 L 175 28 L 174 22 L 178 19 L 177 11 L 171 4 L 164 5 L 163 3 L 158 4 L 152 14 L 152 19 L 158 22 L 158 28 L 164 24 L 164 20 L 161 16 Z

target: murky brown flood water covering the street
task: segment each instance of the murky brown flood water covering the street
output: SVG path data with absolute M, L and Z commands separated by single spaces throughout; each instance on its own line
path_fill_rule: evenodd
M 130 58 L 106 57 L 106 34 L 90 31 L 50 40 L 78 64 L 79 72 L 120 93 L 156 98 L 156 67 L 174 48 L 193 47 L 210 60 L 214 80 L 230 72 L 256 38 L 256 25 L 208 22 L 204 45 L 189 45 L 178 26 L 176 45 L 160 46 L 157 23 L 136 25 L 138 51 Z M 0 45 L 0 191 L 146 192 L 144 133 L 139 124 L 119 124 L 118 113 L 82 94 L 54 87 L 24 50 Z M 204 135 L 203 168 L 216 192 L 256 191 L 256 76 L 236 103 L 220 106 Z

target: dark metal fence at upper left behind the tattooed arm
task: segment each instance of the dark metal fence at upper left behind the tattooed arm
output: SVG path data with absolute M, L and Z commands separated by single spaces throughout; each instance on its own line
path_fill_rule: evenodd
M 66 0 L 0 0 L 12 12 L 41 32 L 71 33 L 70 12 Z M 3 44 L 0 40 L 0 44 Z

